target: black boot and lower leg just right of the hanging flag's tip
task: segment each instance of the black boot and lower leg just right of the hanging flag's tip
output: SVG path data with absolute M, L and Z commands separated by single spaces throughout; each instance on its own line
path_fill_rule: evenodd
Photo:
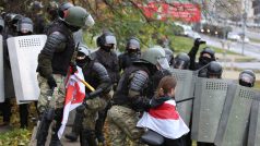
M 70 139 L 71 142 L 75 142 L 78 139 L 78 136 L 80 135 L 80 131 L 82 127 L 82 122 L 83 122 L 83 111 L 80 111 L 81 109 L 76 108 L 76 113 L 75 113 L 75 119 L 74 123 L 71 130 L 71 133 L 66 134 L 64 137 Z

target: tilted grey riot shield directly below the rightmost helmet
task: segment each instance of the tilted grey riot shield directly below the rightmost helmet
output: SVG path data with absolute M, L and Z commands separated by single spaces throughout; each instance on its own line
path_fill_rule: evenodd
M 248 120 L 256 93 L 248 87 L 228 87 L 223 114 L 215 138 L 217 146 L 244 146 L 248 134 Z

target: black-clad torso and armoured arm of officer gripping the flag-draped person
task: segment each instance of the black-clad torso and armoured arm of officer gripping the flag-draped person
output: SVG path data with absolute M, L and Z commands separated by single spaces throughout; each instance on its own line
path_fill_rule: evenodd
M 128 68 L 117 87 L 114 95 L 114 104 L 126 106 L 135 111 L 144 111 L 150 108 L 150 99 L 145 98 L 149 94 L 149 85 L 151 82 L 150 70 L 142 64 Z M 130 96 L 129 96 L 130 95 Z

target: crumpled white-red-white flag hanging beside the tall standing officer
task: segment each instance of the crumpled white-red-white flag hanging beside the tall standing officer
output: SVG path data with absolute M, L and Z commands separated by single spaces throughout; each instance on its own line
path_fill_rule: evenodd
M 81 78 L 84 81 L 84 75 L 82 73 L 81 68 L 76 66 L 76 69 L 78 69 L 78 72 L 69 75 L 68 82 L 66 85 L 67 90 L 66 90 L 66 99 L 64 99 L 63 118 L 62 118 L 61 126 L 58 131 L 59 138 L 61 138 L 62 133 L 66 129 L 66 124 L 67 124 L 70 111 L 81 106 L 83 102 L 83 99 L 85 98 L 85 86 L 79 80 Z

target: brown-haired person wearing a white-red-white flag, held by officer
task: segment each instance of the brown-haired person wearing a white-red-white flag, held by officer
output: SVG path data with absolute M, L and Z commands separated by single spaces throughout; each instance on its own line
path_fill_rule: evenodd
M 156 95 L 151 104 L 157 105 L 144 112 L 137 126 L 152 130 L 164 137 L 162 146 L 184 146 L 181 136 L 189 132 L 176 109 L 175 87 L 176 80 L 165 76 L 161 80 Z

